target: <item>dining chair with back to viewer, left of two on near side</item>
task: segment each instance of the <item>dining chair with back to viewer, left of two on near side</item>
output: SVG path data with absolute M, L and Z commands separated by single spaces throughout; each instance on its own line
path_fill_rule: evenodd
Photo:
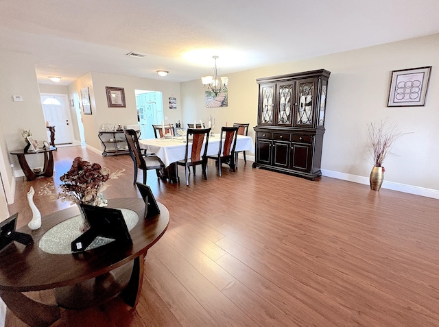
M 185 159 L 177 161 L 177 166 L 185 166 L 186 185 L 189 185 L 189 167 L 192 167 L 193 174 L 195 175 L 195 166 L 201 165 L 204 180 L 207 180 L 206 166 L 207 166 L 207 147 L 209 145 L 209 133 L 211 128 L 189 128 L 186 134 L 186 152 Z M 189 144 L 191 146 L 191 153 L 189 153 Z M 204 151 L 201 153 L 204 143 Z M 178 168 L 178 167 L 177 167 Z M 177 180 L 178 177 L 177 169 Z

